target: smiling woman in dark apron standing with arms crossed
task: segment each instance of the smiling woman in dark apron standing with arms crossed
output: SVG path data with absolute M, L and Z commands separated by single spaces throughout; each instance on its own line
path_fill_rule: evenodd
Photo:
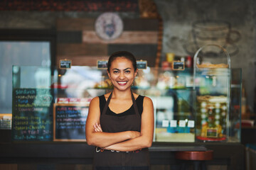
M 154 108 L 150 98 L 131 91 L 137 72 L 132 53 L 110 56 L 107 74 L 114 89 L 92 99 L 86 122 L 87 144 L 96 147 L 94 169 L 149 169 Z

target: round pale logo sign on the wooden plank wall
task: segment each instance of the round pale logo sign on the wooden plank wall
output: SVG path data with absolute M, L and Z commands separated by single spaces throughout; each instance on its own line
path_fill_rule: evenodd
M 116 13 L 102 13 L 95 21 L 95 31 L 103 40 L 114 40 L 123 30 L 122 19 Z

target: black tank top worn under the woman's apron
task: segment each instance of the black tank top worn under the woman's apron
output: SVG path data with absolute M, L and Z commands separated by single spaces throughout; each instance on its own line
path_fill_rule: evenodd
M 105 98 L 104 95 L 99 96 L 99 98 L 100 98 L 100 115 L 102 115 L 105 103 L 107 101 L 106 101 L 106 98 Z M 135 101 L 137 103 L 137 107 L 138 107 L 138 110 L 139 110 L 139 115 L 142 115 L 144 96 L 139 95 L 136 98 Z M 114 116 L 117 116 L 117 117 L 122 117 L 122 116 L 125 116 L 125 115 L 134 115 L 134 114 L 135 114 L 135 111 L 134 111 L 133 105 L 127 111 L 124 111 L 123 113 L 116 114 L 113 111 L 111 111 L 109 107 L 107 108 L 107 112 L 106 112 L 106 115 L 114 115 Z

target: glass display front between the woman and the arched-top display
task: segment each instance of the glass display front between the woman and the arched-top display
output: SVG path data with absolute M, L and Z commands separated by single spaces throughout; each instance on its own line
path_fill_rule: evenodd
M 194 142 L 192 70 L 150 68 L 135 80 L 138 94 L 149 96 L 155 109 L 155 142 Z

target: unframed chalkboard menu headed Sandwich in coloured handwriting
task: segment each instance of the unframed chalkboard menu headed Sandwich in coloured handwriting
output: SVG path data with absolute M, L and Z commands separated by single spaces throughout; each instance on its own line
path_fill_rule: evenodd
M 53 140 L 53 95 L 51 89 L 14 89 L 13 141 Z

